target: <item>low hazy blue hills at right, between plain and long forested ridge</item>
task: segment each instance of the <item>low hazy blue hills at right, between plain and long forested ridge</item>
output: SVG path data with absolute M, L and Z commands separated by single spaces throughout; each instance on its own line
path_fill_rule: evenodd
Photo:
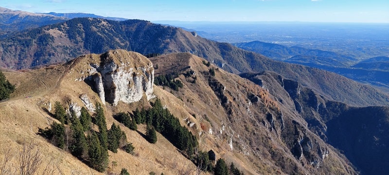
M 328 70 L 356 81 L 389 88 L 387 78 L 389 77 L 389 64 L 388 57 L 385 56 L 367 59 L 355 64 L 359 61 L 356 58 L 329 51 L 310 50 L 296 46 L 286 47 L 261 41 L 235 43 L 234 45 L 248 51 L 264 54 L 275 60 Z

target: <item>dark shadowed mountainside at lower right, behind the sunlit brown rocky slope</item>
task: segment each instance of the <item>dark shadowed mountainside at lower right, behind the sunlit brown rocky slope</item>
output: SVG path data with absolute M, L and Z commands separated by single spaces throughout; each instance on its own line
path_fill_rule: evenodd
M 298 113 L 296 121 L 306 123 L 306 128 L 315 133 L 321 140 L 337 148 L 344 154 L 355 169 L 366 175 L 386 175 L 388 166 L 388 133 L 389 107 L 368 106 L 353 107 L 336 102 L 319 95 L 314 89 L 302 86 L 300 83 L 288 80 L 274 72 L 244 73 L 248 78 L 270 93 L 291 111 Z M 293 123 L 296 125 L 296 122 Z M 290 124 L 285 124 L 285 128 Z M 303 128 L 303 127 L 301 127 Z M 292 128 L 285 132 L 285 136 L 298 136 L 292 145 L 291 151 L 296 157 L 313 158 L 311 163 L 320 163 L 318 157 L 326 153 L 325 147 L 316 149 L 315 143 L 309 137 L 302 136 L 304 132 Z M 312 134 L 311 133 L 311 134 Z M 311 137 L 312 139 L 312 137 Z M 287 137 L 285 137 L 287 140 Z M 304 146 L 305 145 L 305 146 Z M 316 151 L 314 151 L 316 149 Z M 314 156 L 306 154 L 306 150 L 313 150 Z M 324 152 L 323 152 L 324 150 Z M 331 152 L 331 150 L 329 150 Z M 328 153 L 327 153 L 328 154 Z

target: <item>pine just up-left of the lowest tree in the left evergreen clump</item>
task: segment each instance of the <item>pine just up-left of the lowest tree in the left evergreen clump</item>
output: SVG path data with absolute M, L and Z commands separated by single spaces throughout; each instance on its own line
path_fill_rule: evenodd
M 71 123 L 72 143 L 71 154 L 75 157 L 84 157 L 88 151 L 88 143 L 85 138 L 84 128 L 77 117 L 73 117 Z

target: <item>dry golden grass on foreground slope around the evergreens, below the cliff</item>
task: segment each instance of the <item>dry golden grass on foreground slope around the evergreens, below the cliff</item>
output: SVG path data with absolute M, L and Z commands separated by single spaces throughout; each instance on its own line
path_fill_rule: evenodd
M 132 56 L 137 59 L 139 55 L 134 54 Z M 91 58 L 96 58 L 96 55 L 92 55 Z M 84 60 L 75 60 L 71 63 L 75 63 L 74 65 L 58 65 L 26 72 L 4 72 L 7 79 L 12 84 L 17 85 L 17 91 L 12 94 L 11 99 L 0 103 L 0 140 L 2 140 L 0 142 L 0 157 L 6 154 L 8 148 L 12 148 L 13 153 L 18 152 L 22 147 L 19 144 L 22 140 L 32 140 L 39 148 L 42 157 L 44 157 L 42 165 L 46 165 L 52 159 L 55 159 L 58 161 L 58 171 L 63 175 L 101 174 L 91 170 L 80 160 L 71 156 L 69 152 L 56 148 L 44 138 L 36 135 L 38 128 L 45 128 L 55 120 L 42 109 L 42 107 L 47 108 L 49 102 L 53 104 L 55 101 L 59 101 L 64 105 L 77 103 L 77 105 L 83 106 L 79 95 L 87 94 L 92 103 L 101 103 L 100 98 L 86 83 L 75 80 L 75 78 L 82 76 L 79 70 L 85 70 L 86 68 L 85 64 L 82 63 Z M 166 103 L 167 100 L 163 94 L 164 92 L 162 92 L 163 90 L 156 89 L 156 94 L 161 95 L 160 98 L 164 99 L 163 102 Z M 32 97 L 25 98 L 30 95 Z M 170 100 L 172 98 L 175 97 L 170 96 Z M 176 103 L 180 102 L 177 98 L 175 99 Z M 112 123 L 117 123 L 112 114 L 118 111 L 132 111 L 144 104 L 144 99 L 142 102 L 130 105 L 120 103 L 118 107 L 107 104 L 104 109 L 108 128 Z M 176 111 L 175 108 L 179 108 L 180 105 L 182 103 L 167 103 L 168 108 L 173 111 Z M 177 109 L 177 111 L 179 110 L 181 109 Z M 192 117 L 188 112 L 175 115 L 179 118 Z M 182 120 L 180 121 L 182 124 L 185 123 Z M 130 155 L 122 150 L 118 150 L 118 153 L 109 152 L 110 166 L 108 171 L 120 173 L 122 168 L 126 168 L 132 175 L 147 175 L 152 171 L 156 174 L 163 173 L 165 175 L 177 175 L 186 171 L 190 171 L 191 174 L 195 173 L 195 165 L 182 156 L 160 134 L 158 134 L 157 143 L 151 144 L 138 132 L 129 130 L 123 124 L 120 124 L 120 126 L 125 131 L 127 140 L 135 146 L 135 154 Z M 139 125 L 139 131 L 144 133 L 145 126 Z M 112 166 L 112 162 L 116 162 L 114 163 L 116 166 Z M 16 159 L 12 163 L 13 166 L 16 166 Z

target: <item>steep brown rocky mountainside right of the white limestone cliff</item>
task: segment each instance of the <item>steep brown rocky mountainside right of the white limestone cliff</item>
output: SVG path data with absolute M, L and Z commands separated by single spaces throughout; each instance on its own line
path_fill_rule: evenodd
M 257 86 L 215 65 L 208 67 L 190 53 L 150 60 L 159 65 L 156 76 L 178 74 L 183 88 L 164 89 L 192 110 L 200 122 L 200 144 L 206 143 L 202 146 L 216 155 L 234 164 L 241 161 L 239 165 L 252 174 L 357 174 L 348 159 L 311 131 L 294 110 L 292 98 L 280 85 L 286 82 L 281 76 L 280 81 L 258 79 L 254 82 L 262 86 Z M 287 86 L 303 89 L 293 82 Z

